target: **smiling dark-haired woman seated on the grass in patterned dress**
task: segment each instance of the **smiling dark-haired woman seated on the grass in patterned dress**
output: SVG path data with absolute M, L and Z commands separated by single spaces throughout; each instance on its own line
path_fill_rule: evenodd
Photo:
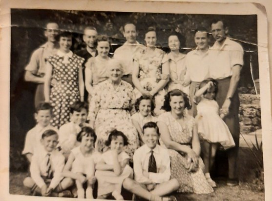
M 167 147 L 171 157 L 171 178 L 180 183 L 178 192 L 211 193 L 200 155 L 200 142 L 194 118 L 187 113 L 190 108 L 188 96 L 174 89 L 165 96 L 164 109 L 158 127 L 161 132 L 160 143 Z

